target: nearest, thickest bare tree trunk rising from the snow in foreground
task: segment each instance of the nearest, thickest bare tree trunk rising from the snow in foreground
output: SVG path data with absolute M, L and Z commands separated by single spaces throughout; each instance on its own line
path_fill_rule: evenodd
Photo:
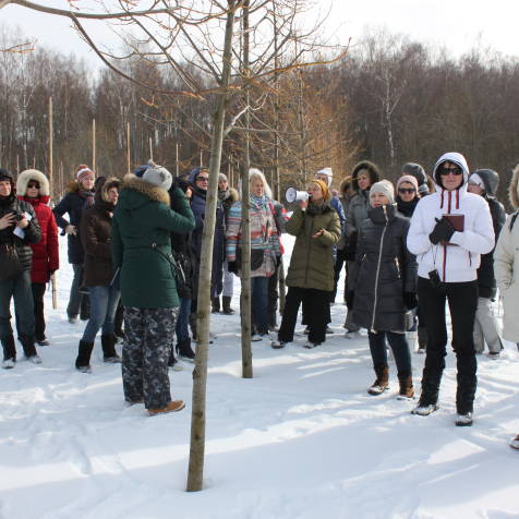
M 229 85 L 232 59 L 232 35 L 234 26 L 234 0 L 228 0 L 222 73 L 220 86 Z M 202 261 L 198 280 L 198 310 L 195 369 L 193 371 L 193 401 L 191 414 L 191 445 L 188 472 L 188 492 L 201 491 L 204 483 L 205 455 L 205 400 L 207 386 L 207 358 L 209 346 L 210 316 L 210 276 L 213 270 L 213 239 L 215 234 L 216 205 L 218 198 L 218 173 L 220 171 L 221 147 L 224 143 L 224 124 L 229 100 L 227 88 L 218 99 L 214 114 L 210 141 L 209 185 L 202 238 Z

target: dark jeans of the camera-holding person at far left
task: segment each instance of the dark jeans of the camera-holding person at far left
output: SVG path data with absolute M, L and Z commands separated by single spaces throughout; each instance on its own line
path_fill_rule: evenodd
M 19 315 L 16 331 L 19 336 L 34 337 L 34 302 L 31 288 L 31 270 L 23 270 L 4 281 L 0 281 L 0 338 L 13 335 L 11 326 L 11 298 Z

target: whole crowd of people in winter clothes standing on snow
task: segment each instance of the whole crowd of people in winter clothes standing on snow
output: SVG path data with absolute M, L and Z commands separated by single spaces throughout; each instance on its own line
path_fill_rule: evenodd
M 331 169 L 324 168 L 290 206 L 288 217 L 282 204 L 273 198 L 262 171 L 250 171 L 248 201 L 240 201 L 240 186 L 232 189 L 220 173 L 212 310 L 234 313 L 233 276 L 242 268 L 242 207 L 246 203 L 253 341 L 267 339 L 275 349 L 286 347 L 293 341 L 302 306 L 307 333 L 304 347 L 318 347 L 331 331 L 330 303 L 343 292 L 346 338 L 361 337 L 361 329 L 367 330 L 375 372 L 367 391 L 376 396 L 389 387 L 387 342 L 397 366 L 398 398 L 413 398 L 411 352 L 418 341 L 417 351 L 425 353 L 425 362 L 412 413 L 427 415 L 438 409 L 447 302 L 457 360 L 455 423 L 471 425 L 476 353 L 486 343 L 490 357 L 496 359 L 503 349 L 492 305 L 497 288 L 504 299 L 504 338 L 519 347 L 514 268 L 519 261 L 518 213 L 506 219 L 496 198 L 497 173 L 491 169 L 470 172 L 458 153 L 440 156 L 431 176 L 420 165 L 408 162 L 395 185 L 382 177 L 376 165 L 364 160 L 336 191 Z M 519 208 L 518 179 L 519 168 L 509 188 L 515 209 Z M 202 167 L 173 180 L 167 169 L 152 161 L 122 181 L 96 179 L 90 168 L 81 165 L 69 193 L 52 212 L 44 173 L 20 173 L 15 189 L 13 176 L 1 169 L 3 367 L 14 367 L 16 360 L 11 298 L 25 357 L 41 362 L 35 345 L 49 343 L 43 302 L 46 283 L 59 268 L 61 228 L 68 236 L 74 273 L 68 318 L 71 324 L 87 321 L 75 367 L 92 371 L 90 354 L 100 329 L 105 362 L 122 363 L 128 402 L 144 402 L 149 414 L 182 409 L 182 401 L 171 399 L 168 366 L 174 366 L 178 357 L 195 357 L 192 341 L 196 340 L 208 180 L 209 171 Z M 285 232 L 295 241 L 278 327 L 277 281 Z M 338 291 L 342 269 L 346 282 L 343 291 Z M 124 338 L 122 359 L 116 350 L 117 336 Z M 519 437 L 512 446 L 519 447 Z

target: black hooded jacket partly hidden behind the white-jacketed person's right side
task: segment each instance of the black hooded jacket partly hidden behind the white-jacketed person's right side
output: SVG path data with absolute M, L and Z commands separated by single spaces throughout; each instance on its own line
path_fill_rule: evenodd
M 494 234 L 499 238 L 500 230 L 506 221 L 506 213 L 503 204 L 496 200 L 495 195 L 499 185 L 499 176 L 492 169 L 479 169 L 478 173 L 485 184 L 483 198 L 488 203 Z M 478 268 L 478 287 L 480 298 L 494 299 L 496 297 L 496 278 L 494 276 L 494 249 L 488 254 L 481 255 L 480 268 Z

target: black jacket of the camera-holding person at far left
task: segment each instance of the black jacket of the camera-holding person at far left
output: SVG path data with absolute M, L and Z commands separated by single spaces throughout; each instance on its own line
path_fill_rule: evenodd
M 11 185 L 14 185 L 14 183 L 11 182 Z M 15 228 L 14 224 L 7 227 L 5 229 L 0 230 L 0 244 L 10 244 L 16 246 L 24 270 L 29 270 L 33 264 L 33 250 L 31 249 L 31 244 L 38 243 L 41 239 L 41 230 L 39 228 L 38 218 L 36 217 L 33 206 L 27 202 L 17 200 L 14 195 L 14 191 L 10 196 L 0 196 L 0 218 L 2 218 L 8 213 L 27 213 L 32 216 L 28 226 L 23 229 L 25 232 L 25 237 L 23 239 L 13 234 Z M 2 253 L 2 250 L 3 249 L 0 246 L 0 254 Z

